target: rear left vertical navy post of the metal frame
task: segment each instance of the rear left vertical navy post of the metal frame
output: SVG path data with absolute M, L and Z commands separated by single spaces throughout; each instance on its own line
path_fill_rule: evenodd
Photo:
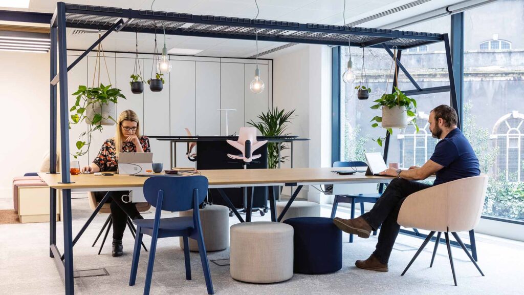
M 51 41 L 50 49 L 50 79 L 57 75 L 57 28 L 51 24 L 49 32 Z M 50 97 L 50 122 L 49 122 L 49 173 L 57 173 L 57 86 L 49 84 Z M 57 190 L 49 189 L 49 245 L 57 244 Z M 49 256 L 53 257 L 53 252 L 49 249 Z

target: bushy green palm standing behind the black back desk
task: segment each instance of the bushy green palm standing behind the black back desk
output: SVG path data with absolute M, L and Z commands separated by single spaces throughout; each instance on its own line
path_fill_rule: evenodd
M 286 133 L 288 128 L 287 124 L 291 122 L 292 114 L 295 110 L 286 112 L 284 109 L 279 110 L 278 107 L 273 107 L 267 113 L 262 113 L 257 116 L 260 120 L 258 122 L 246 122 L 252 125 L 263 136 L 286 136 L 290 133 Z M 280 145 L 280 151 L 287 150 L 288 147 L 283 143 L 268 143 L 267 144 L 267 164 L 268 168 L 274 169 L 278 167 L 278 149 Z M 287 156 L 280 157 L 280 163 L 287 161 Z

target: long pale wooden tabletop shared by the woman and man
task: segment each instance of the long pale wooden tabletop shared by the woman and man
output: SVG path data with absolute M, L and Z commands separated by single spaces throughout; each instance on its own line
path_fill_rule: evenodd
M 282 168 L 282 169 L 232 169 L 232 170 L 200 170 L 201 175 L 208 177 L 210 186 L 231 186 L 247 184 L 324 184 L 324 183 L 379 183 L 391 181 L 395 177 L 366 176 L 364 173 L 353 175 L 338 175 L 333 170 L 347 168 Z M 71 184 L 60 183 L 61 174 L 39 173 L 43 181 L 57 189 L 78 189 L 96 187 L 140 187 L 147 176 L 119 175 L 113 176 L 80 174 L 71 175 Z M 163 175 L 163 174 L 153 174 Z M 183 177 L 183 176 L 173 176 Z

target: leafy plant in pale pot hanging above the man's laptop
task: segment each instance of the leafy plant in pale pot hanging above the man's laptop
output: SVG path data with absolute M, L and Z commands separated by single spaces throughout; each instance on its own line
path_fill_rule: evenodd
M 395 48 L 395 47 L 394 47 Z M 393 57 L 395 63 L 395 69 L 397 69 L 397 58 L 396 58 L 396 48 L 395 54 Z M 393 63 L 392 63 L 393 64 Z M 391 73 L 391 69 L 390 69 Z M 398 73 L 395 70 L 395 81 L 398 85 Z M 386 89 L 388 89 L 389 78 L 386 83 Z M 413 124 L 419 132 L 419 127 L 417 125 L 417 101 L 415 99 L 409 98 L 406 94 L 402 93 L 396 86 L 394 87 L 395 92 L 391 94 L 384 93 L 382 97 L 375 100 L 371 109 L 376 110 L 380 109 L 382 111 L 382 116 L 375 116 L 371 119 L 370 122 L 375 121 L 371 127 L 376 128 L 378 124 L 381 124 L 382 128 L 387 130 L 387 134 L 393 135 L 393 128 L 406 128 L 408 125 Z M 378 145 L 382 146 L 386 137 L 374 139 Z

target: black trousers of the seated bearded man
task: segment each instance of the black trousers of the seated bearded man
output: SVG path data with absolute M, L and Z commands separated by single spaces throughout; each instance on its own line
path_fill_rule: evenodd
M 362 218 L 366 220 L 373 230 L 377 230 L 378 227 L 382 225 L 380 233 L 378 234 L 378 243 L 373 252 L 373 255 L 378 258 L 380 263 L 388 263 L 389 255 L 397 239 L 400 230 L 397 218 L 402 202 L 412 193 L 428 187 L 431 187 L 431 185 L 395 178 L 387 186 L 373 208 L 368 213 L 362 215 Z

